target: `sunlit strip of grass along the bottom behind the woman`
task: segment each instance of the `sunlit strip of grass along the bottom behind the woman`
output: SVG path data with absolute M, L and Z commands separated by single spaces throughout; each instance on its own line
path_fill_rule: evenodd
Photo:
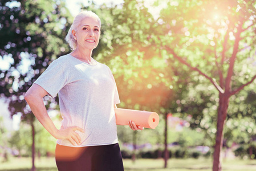
M 56 171 L 55 158 L 42 157 L 36 158 L 35 166 L 37 171 Z M 164 169 L 164 160 L 162 159 L 139 159 L 135 162 L 124 160 L 125 171 L 210 171 L 212 170 L 212 160 L 199 159 L 176 159 L 168 160 L 168 168 Z M 256 170 L 256 160 L 224 160 L 222 162 L 225 171 L 254 171 Z M 3 171 L 29 171 L 31 169 L 31 158 L 10 158 L 8 162 L 0 163 L 0 170 Z

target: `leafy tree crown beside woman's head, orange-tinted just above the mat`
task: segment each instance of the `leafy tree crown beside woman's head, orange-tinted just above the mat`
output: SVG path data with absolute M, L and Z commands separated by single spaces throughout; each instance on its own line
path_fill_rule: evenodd
M 92 10 L 92 6 L 87 9 Z M 115 76 L 120 107 L 160 111 L 172 99 L 173 80 L 161 50 L 152 46 L 158 31 L 152 14 L 140 1 L 93 9 L 101 18 L 100 52 L 95 59 Z

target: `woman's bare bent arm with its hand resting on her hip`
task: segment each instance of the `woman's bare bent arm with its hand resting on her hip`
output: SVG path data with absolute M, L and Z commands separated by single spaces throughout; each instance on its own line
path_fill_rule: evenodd
M 84 132 L 83 129 L 79 127 L 57 129 L 51 118 L 48 116 L 46 107 L 43 103 L 43 97 L 47 94 L 47 91 L 45 91 L 42 87 L 38 86 L 37 84 L 32 84 L 30 89 L 26 92 L 25 100 L 29 104 L 35 117 L 52 136 L 54 136 L 56 139 L 68 139 L 73 145 L 75 145 L 75 143 L 80 145 L 80 136 L 75 131 L 78 130 Z

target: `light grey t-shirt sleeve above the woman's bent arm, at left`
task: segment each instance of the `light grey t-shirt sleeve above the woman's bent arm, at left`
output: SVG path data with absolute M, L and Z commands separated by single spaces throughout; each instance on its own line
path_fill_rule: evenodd
M 66 82 L 67 76 L 62 66 L 54 60 L 33 84 L 38 84 L 48 92 L 48 95 L 55 97 Z

